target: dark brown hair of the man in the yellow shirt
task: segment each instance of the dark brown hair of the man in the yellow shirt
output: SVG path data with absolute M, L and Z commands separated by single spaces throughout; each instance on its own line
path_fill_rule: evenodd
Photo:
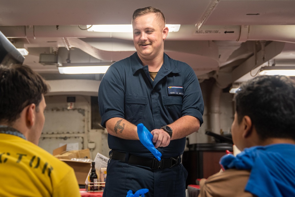
M 28 66 L 0 65 L 0 121 L 14 122 L 22 110 L 32 103 L 38 110 L 42 94 L 49 90 L 45 80 Z

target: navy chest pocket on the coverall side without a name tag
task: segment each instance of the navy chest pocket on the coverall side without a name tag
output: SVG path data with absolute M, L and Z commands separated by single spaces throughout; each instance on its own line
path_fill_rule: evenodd
M 125 119 L 135 125 L 143 121 L 147 97 L 125 95 Z

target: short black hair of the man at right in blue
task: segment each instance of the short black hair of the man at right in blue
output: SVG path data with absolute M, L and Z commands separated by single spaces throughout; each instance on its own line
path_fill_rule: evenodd
M 238 123 L 247 115 L 261 140 L 295 140 L 295 82 L 288 76 L 257 76 L 234 97 Z

